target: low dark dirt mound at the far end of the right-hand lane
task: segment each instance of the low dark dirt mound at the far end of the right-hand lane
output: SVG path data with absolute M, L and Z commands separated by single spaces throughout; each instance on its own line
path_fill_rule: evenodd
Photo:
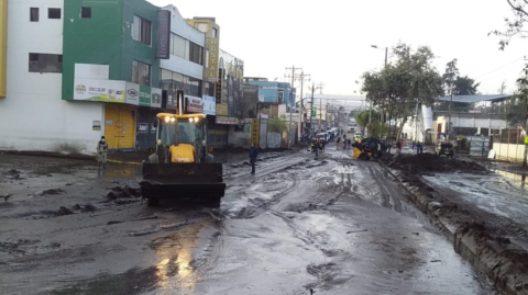
M 476 162 L 439 157 L 433 154 L 405 155 L 387 162 L 391 168 L 410 172 L 485 172 L 486 169 Z

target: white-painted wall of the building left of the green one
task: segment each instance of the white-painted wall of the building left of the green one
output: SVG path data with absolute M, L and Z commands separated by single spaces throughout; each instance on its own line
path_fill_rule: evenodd
M 38 22 L 30 22 L 31 7 L 41 9 Z M 47 8 L 62 9 L 63 0 L 9 1 L 0 149 L 95 152 L 103 131 L 92 131 L 92 121 L 103 123 L 102 103 L 63 101 L 62 73 L 29 72 L 30 53 L 63 53 L 63 20 L 48 20 Z

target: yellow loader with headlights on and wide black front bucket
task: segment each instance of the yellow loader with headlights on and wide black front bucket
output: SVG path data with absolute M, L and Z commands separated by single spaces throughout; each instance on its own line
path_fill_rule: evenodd
M 143 163 L 141 192 L 148 206 L 161 200 L 219 206 L 226 192 L 222 164 L 207 145 L 207 115 L 185 114 L 178 91 L 176 114 L 156 115 L 156 151 Z

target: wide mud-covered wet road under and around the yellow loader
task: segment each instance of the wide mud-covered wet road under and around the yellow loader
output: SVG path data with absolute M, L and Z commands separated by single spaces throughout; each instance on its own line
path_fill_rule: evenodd
M 218 209 L 147 207 L 140 167 L 0 155 L 0 294 L 495 294 L 350 154 L 228 162 Z

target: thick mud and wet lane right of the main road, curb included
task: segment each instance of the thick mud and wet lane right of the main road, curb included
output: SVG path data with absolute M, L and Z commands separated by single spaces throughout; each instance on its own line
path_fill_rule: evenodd
M 520 213 L 528 208 L 526 198 L 493 172 L 485 171 L 483 177 L 480 166 L 448 161 L 458 162 L 450 166 L 458 173 L 430 174 L 429 170 L 420 177 L 403 166 L 391 168 L 399 169 L 395 175 L 411 191 L 418 207 L 448 232 L 459 253 L 503 292 L 527 294 L 528 219 Z

